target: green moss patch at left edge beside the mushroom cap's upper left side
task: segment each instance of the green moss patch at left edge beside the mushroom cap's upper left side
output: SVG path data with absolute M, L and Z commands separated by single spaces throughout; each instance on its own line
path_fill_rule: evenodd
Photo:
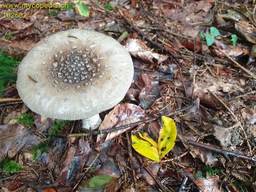
M 0 96 L 4 95 L 7 84 L 15 83 L 17 74 L 15 68 L 20 62 L 20 58 L 11 57 L 3 51 L 0 51 Z

